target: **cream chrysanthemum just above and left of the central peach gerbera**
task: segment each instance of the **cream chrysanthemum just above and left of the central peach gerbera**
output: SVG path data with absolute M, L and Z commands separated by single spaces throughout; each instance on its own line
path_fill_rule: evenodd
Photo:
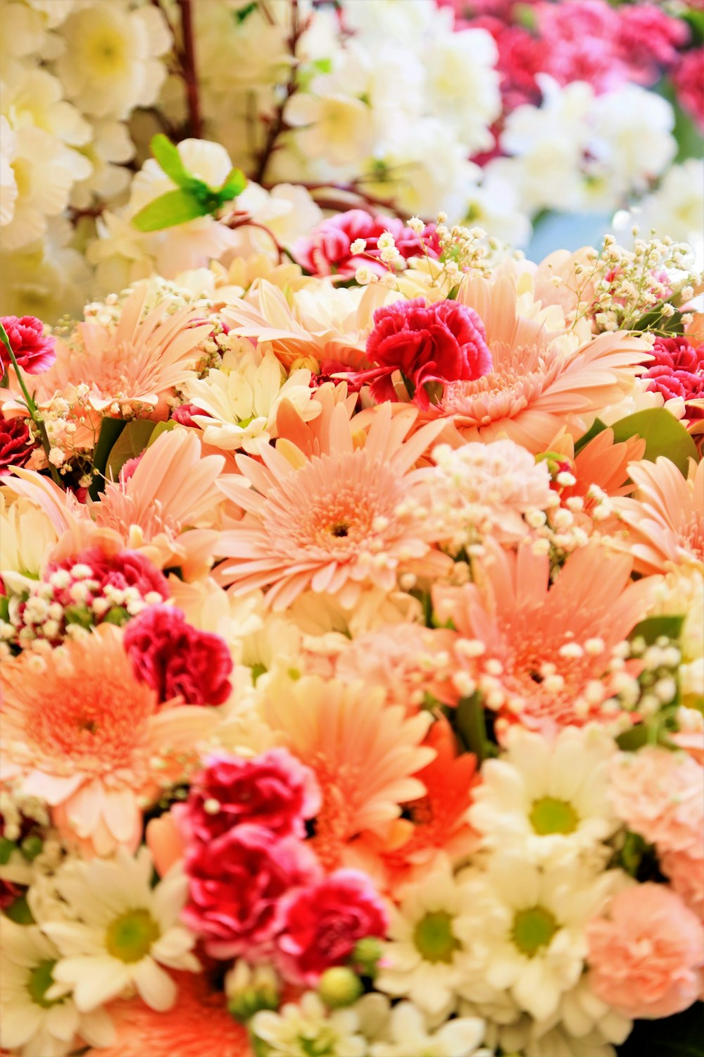
M 319 414 L 320 404 L 310 400 L 310 371 L 291 371 L 286 378 L 272 352 L 262 355 L 248 341 L 242 346 L 247 351 L 226 352 L 220 367 L 205 378 L 187 382 L 183 394 L 204 411 L 193 414 L 193 420 L 203 429 L 206 444 L 255 455 L 277 435 L 282 401 L 292 404 L 304 420 Z

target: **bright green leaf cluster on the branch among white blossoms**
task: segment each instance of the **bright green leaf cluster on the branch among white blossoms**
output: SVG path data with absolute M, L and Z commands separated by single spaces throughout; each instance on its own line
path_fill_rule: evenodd
M 135 214 L 132 223 L 140 231 L 161 231 L 217 212 L 245 189 L 247 178 L 242 169 L 231 169 L 221 187 L 198 180 L 184 165 L 175 144 L 161 132 L 153 137 L 151 148 L 167 177 L 176 184 L 176 190 L 160 194 Z

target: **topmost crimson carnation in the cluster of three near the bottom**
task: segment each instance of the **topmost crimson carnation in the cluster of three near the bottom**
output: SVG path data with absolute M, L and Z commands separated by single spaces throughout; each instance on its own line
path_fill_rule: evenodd
M 213 801 L 215 813 L 206 808 Z M 255 759 L 211 756 L 193 779 L 188 803 L 176 810 L 187 834 L 206 843 L 243 823 L 303 837 L 305 819 L 320 810 L 320 791 L 312 772 L 286 748 Z

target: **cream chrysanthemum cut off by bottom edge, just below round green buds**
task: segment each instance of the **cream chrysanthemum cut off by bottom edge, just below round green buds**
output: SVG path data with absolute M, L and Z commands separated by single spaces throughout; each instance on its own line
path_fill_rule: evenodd
M 328 1012 L 313 991 L 289 1002 L 279 1013 L 266 1009 L 250 1021 L 255 1039 L 265 1042 L 270 1057 L 366 1057 L 366 1042 L 359 1034 L 353 1009 Z

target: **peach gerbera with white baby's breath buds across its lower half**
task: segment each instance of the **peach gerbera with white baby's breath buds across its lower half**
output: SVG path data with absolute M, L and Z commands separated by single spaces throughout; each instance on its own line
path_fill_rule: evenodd
M 486 546 L 478 582 L 434 593 L 438 618 L 458 630 L 460 692 L 469 680 L 503 724 L 547 734 L 602 718 L 611 651 L 646 615 L 653 579 L 630 582 L 632 558 L 598 542 L 574 551 L 553 585 L 530 542 L 515 554 Z

